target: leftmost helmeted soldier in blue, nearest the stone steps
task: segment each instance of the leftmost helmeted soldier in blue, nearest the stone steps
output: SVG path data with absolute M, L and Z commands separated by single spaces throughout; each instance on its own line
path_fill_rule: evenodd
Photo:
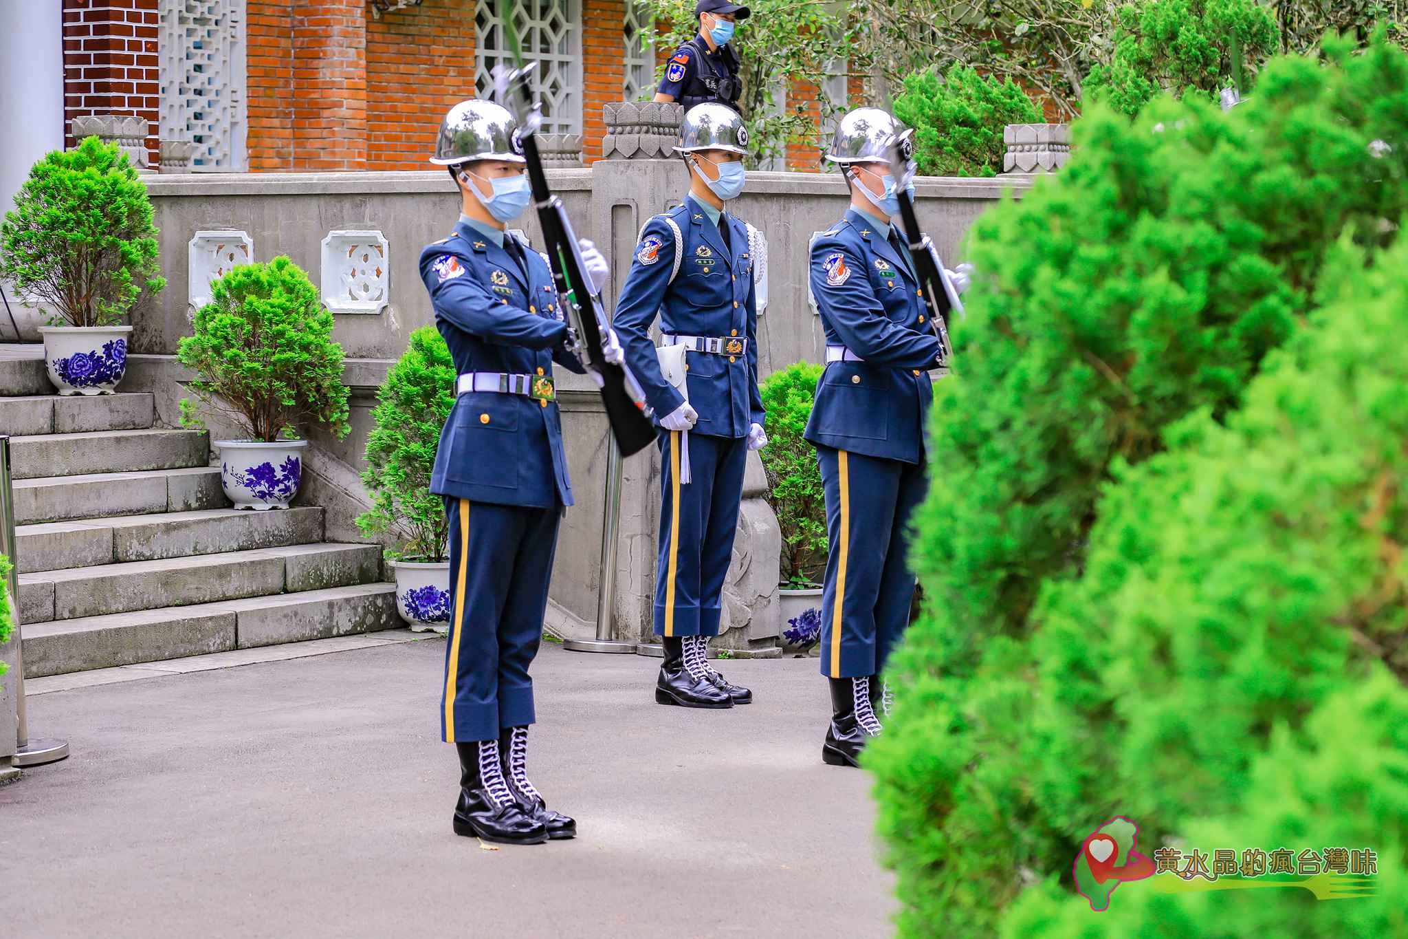
M 431 480 L 451 521 L 439 718 L 459 750 L 453 828 L 535 845 L 576 835 L 576 822 L 549 811 L 528 781 L 528 666 L 542 638 L 558 522 L 572 505 L 552 363 L 584 369 L 546 259 L 504 231 L 529 201 L 514 118 L 489 101 L 460 101 L 431 162 L 449 168 L 462 211 L 455 232 L 421 252 L 435 325 L 459 373 Z M 590 242 L 583 256 L 600 287 L 605 260 Z M 614 335 L 604 346 L 608 360 L 621 360 Z

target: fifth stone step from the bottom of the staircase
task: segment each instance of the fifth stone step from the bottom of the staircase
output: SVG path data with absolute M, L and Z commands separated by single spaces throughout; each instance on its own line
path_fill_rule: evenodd
M 10 441 L 14 479 L 184 469 L 210 462 L 204 431 L 92 431 Z

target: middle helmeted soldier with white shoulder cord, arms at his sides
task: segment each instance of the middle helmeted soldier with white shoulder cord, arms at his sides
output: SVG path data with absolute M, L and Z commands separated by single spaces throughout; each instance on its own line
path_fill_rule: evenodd
M 663 459 L 655 631 L 665 645 L 655 700 L 728 708 L 753 700 L 707 660 L 719 629 L 748 450 L 767 443 L 758 391 L 758 313 L 748 227 L 724 211 L 743 189 L 748 131 L 736 111 L 698 104 L 674 148 L 684 203 L 656 215 L 621 287 L 612 325 L 659 417 Z M 662 349 L 648 331 L 660 315 Z M 672 382 L 669 352 L 681 362 Z

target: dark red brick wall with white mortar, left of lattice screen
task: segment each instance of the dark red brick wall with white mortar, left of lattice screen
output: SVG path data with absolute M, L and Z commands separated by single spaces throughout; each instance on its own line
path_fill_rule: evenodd
M 14 0 L 10 0 L 14 1 Z M 63 121 L 132 114 L 149 122 L 148 160 L 161 132 L 158 0 L 63 0 Z M 65 146 L 77 141 L 65 131 Z

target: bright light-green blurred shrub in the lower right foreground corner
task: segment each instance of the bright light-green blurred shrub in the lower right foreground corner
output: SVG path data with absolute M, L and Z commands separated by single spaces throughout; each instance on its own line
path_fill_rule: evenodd
M 1038 612 L 1021 757 L 1071 838 L 1066 870 L 1118 807 L 1148 850 L 1370 847 L 1377 897 L 1331 909 L 1128 890 L 1090 935 L 1408 928 L 1408 359 L 1385 355 L 1408 342 L 1408 244 L 1367 276 L 1360 258 L 1345 252 L 1329 305 L 1226 427 L 1191 415 L 1170 452 L 1117 474 L 1086 576 Z M 1090 912 L 1063 887 L 1024 898 L 1004 933 L 1071 935 L 1059 911 Z M 1170 904 L 1177 928 L 1155 929 Z

